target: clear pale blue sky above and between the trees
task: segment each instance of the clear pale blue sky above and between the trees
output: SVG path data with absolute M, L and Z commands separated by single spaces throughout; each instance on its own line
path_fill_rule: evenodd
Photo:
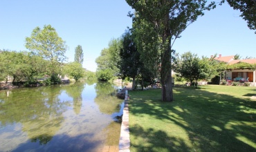
M 0 49 L 27 50 L 25 38 L 39 26 L 51 24 L 66 41 L 68 61 L 73 61 L 75 47 L 84 50 L 84 68 L 95 71 L 95 58 L 109 41 L 120 37 L 131 18 L 125 0 L 0 0 Z M 239 54 L 256 57 L 255 31 L 249 30 L 240 12 L 225 4 L 206 11 L 177 39 L 177 53 L 191 51 L 201 57 Z

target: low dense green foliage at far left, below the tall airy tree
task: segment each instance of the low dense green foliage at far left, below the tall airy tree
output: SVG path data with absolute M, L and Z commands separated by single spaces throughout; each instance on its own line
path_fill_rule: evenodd
M 0 79 L 13 77 L 15 81 L 33 82 L 46 73 L 48 61 L 26 51 L 3 51 L 0 53 Z

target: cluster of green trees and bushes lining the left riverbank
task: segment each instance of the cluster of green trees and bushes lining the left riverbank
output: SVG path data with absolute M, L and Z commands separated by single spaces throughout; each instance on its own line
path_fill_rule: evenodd
M 75 48 L 75 61 L 64 64 L 67 46 L 51 25 L 43 29 L 36 27 L 30 37 L 26 37 L 26 48 L 30 51 L 2 50 L 0 53 L 0 80 L 37 83 L 38 78 L 49 76 L 46 84 L 58 84 L 60 75 L 73 77 L 75 81 L 85 76 L 82 68 L 84 54 L 82 46 Z

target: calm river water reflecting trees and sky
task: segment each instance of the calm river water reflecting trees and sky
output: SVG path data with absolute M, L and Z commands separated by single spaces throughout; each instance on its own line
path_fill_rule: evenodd
M 123 100 L 109 83 L 0 91 L 0 151 L 97 151 L 117 146 Z

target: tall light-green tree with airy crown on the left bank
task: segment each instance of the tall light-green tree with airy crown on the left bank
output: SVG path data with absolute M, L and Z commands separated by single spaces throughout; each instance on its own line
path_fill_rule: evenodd
M 26 37 L 26 48 L 50 61 L 49 74 L 57 75 L 60 73 L 62 61 L 66 59 L 66 42 L 57 35 L 55 28 L 51 25 L 44 26 L 44 29 L 36 27 L 30 37 Z

